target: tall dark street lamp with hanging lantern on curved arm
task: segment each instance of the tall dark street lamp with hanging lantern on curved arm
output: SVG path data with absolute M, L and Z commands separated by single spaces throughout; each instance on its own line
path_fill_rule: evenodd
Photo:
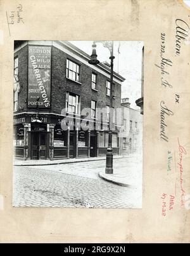
M 112 91 L 113 91 L 113 41 L 94 41 L 92 44 L 92 55 L 89 60 L 89 64 L 97 65 L 99 64 L 99 60 L 97 60 L 96 54 L 96 43 L 103 43 L 105 48 L 110 50 L 110 60 L 111 60 L 111 72 L 110 72 L 110 116 L 109 116 L 109 136 L 108 136 L 108 148 L 106 153 L 106 169 L 105 173 L 113 174 L 113 152 L 111 147 L 112 142 L 112 131 L 111 131 L 111 111 L 112 111 Z

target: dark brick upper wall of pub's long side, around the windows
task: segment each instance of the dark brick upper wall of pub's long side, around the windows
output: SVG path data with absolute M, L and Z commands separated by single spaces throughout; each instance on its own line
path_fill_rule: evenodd
M 91 108 L 91 100 L 97 102 L 97 107 L 105 107 L 110 105 L 110 97 L 106 96 L 106 76 L 99 72 L 93 71 L 91 67 L 79 62 L 75 58 L 70 57 L 57 48 L 52 48 L 52 111 L 61 112 L 65 107 L 66 91 L 71 91 L 80 95 L 81 109 L 84 107 Z M 80 65 L 79 83 L 66 78 L 66 58 L 70 58 Z M 98 91 L 91 88 L 92 72 L 97 74 Z M 115 100 L 113 99 L 113 107 L 120 107 L 121 86 L 115 83 Z

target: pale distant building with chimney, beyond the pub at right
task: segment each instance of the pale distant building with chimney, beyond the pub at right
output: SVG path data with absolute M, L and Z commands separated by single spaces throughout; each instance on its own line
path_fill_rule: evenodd
M 122 98 L 121 154 L 142 152 L 143 116 L 140 111 L 130 108 L 129 98 Z

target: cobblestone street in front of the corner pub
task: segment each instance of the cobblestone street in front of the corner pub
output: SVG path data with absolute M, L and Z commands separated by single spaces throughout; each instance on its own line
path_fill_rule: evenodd
M 132 187 L 122 187 L 99 178 L 98 172 L 105 168 L 104 160 L 14 166 L 13 206 L 141 208 L 142 171 L 135 168 L 131 159 L 114 160 L 114 168 L 126 169 L 126 165 L 136 178 L 136 185 Z

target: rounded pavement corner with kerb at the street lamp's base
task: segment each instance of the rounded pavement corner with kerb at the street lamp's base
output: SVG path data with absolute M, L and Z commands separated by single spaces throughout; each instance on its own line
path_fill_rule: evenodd
M 98 173 L 98 176 L 103 180 L 122 187 L 133 187 L 131 184 L 129 184 L 129 182 L 127 182 L 127 177 L 120 173 L 107 174 L 105 171 L 101 171 Z

